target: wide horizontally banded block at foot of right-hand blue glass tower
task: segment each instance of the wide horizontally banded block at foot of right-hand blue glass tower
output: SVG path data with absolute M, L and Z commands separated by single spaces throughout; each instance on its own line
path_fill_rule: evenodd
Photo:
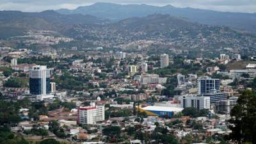
M 204 93 L 202 94 L 204 97 L 210 97 L 210 104 L 214 105 L 216 102 L 220 100 L 226 100 L 227 96 L 225 92 L 213 92 L 213 93 Z

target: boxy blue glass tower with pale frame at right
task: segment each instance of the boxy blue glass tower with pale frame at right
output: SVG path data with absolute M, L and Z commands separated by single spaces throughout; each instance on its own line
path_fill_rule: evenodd
M 198 80 L 198 94 L 220 92 L 220 79 L 203 77 Z

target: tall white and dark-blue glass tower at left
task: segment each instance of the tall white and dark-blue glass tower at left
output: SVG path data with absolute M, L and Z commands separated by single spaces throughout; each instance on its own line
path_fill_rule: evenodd
M 32 95 L 51 93 L 50 70 L 46 66 L 34 66 L 29 72 L 29 90 Z

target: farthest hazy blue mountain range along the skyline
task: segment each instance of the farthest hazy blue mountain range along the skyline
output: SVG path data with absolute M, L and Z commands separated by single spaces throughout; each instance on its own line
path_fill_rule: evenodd
M 95 3 L 90 6 L 80 6 L 75 10 L 60 9 L 56 12 L 69 14 L 93 15 L 114 21 L 131 17 L 145 17 L 154 13 L 169 14 L 182 17 L 193 22 L 212 26 L 228 26 L 243 31 L 256 32 L 256 13 L 217 12 L 196 8 L 177 8 L 171 5 L 150 6 L 147 4 L 113 4 Z

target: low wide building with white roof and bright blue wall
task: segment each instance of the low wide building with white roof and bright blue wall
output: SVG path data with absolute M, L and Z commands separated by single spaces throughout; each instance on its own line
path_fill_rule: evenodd
M 175 113 L 179 113 L 183 110 L 183 108 L 177 107 L 164 107 L 164 106 L 146 106 L 141 108 L 136 107 L 138 111 L 145 112 L 149 116 L 160 116 L 160 117 L 168 117 L 172 118 Z

